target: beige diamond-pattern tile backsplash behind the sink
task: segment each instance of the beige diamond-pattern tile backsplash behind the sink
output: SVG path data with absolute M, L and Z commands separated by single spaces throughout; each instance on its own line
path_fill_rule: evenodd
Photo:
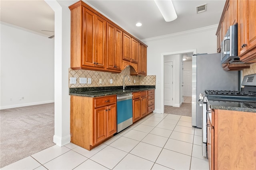
M 128 78 L 125 78 L 126 86 L 136 86 L 136 85 L 156 85 L 156 76 L 130 76 L 130 67 L 126 67 L 121 73 L 111 73 L 111 72 L 101 72 L 92 70 L 72 70 L 68 68 L 68 87 L 69 88 L 81 88 L 81 87 L 101 87 L 101 86 L 122 86 L 123 76 L 128 75 L 130 77 L 130 82 Z M 76 77 L 76 84 L 70 84 L 70 77 Z M 87 78 L 87 84 L 80 84 L 79 78 Z M 92 84 L 88 84 L 88 78 L 92 79 Z M 102 83 L 100 84 L 100 79 Z M 110 84 L 110 79 L 113 83 Z M 135 80 L 135 83 L 134 83 Z

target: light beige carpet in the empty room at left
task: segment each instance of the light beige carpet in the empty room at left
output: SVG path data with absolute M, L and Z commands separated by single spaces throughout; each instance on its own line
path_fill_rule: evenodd
M 0 168 L 55 145 L 54 103 L 0 110 Z

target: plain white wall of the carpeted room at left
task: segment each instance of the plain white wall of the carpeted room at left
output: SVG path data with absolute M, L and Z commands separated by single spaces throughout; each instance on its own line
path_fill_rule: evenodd
M 54 39 L 0 26 L 0 109 L 54 102 Z

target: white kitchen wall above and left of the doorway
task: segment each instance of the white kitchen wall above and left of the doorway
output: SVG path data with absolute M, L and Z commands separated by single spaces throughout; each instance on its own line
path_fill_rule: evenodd
M 216 29 L 218 25 L 176 33 L 165 37 L 142 40 L 147 49 L 147 74 L 156 75 L 155 112 L 164 112 L 163 96 L 163 56 L 178 51 L 196 49 L 196 53 L 216 53 Z M 191 52 L 191 51 L 190 51 Z M 176 53 L 179 54 L 179 53 Z M 179 64 L 180 65 L 180 64 Z M 154 69 L 153 69 L 154 68 Z

